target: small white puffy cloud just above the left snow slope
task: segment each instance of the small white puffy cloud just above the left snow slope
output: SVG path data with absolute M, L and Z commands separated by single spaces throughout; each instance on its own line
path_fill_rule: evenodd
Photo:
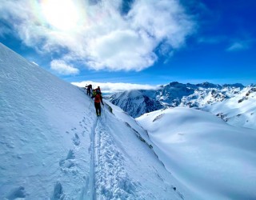
M 59 74 L 70 75 L 78 74 L 79 70 L 74 68 L 74 66 L 67 65 L 66 62 L 62 60 L 53 60 L 50 62 L 50 69 L 57 71 Z

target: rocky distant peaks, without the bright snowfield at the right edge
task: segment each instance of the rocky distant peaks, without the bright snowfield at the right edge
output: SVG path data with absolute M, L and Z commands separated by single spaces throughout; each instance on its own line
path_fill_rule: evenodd
M 242 84 L 215 85 L 210 82 L 183 84 L 170 82 L 155 90 L 130 90 L 110 96 L 110 102 L 120 106 L 134 118 L 162 107 L 187 106 L 202 108 L 215 102 L 222 102 L 238 94 Z M 139 101 L 138 101 L 139 99 Z M 150 99 L 150 103 L 146 100 Z

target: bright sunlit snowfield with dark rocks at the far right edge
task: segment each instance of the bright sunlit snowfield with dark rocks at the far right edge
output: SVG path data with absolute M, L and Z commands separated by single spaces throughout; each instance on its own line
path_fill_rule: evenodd
M 205 106 L 210 111 L 234 126 L 256 130 L 256 86 L 247 86 L 233 98 Z

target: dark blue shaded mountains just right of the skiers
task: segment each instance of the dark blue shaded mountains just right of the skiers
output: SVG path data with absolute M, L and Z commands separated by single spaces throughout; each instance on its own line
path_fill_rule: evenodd
M 178 106 L 183 96 L 194 93 L 190 85 L 171 82 L 155 90 L 126 90 L 110 96 L 114 105 L 125 110 L 130 116 L 137 118 L 142 114 L 159 110 L 168 106 Z

